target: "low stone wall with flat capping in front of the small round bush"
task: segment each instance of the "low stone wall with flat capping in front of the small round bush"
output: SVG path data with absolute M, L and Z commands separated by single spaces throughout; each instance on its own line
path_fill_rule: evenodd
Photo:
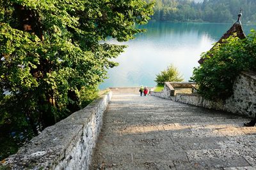
M 164 82 L 164 89 L 161 92 L 151 92 L 152 96 L 164 99 L 175 100 L 175 88 L 193 88 L 195 83 L 192 82 Z

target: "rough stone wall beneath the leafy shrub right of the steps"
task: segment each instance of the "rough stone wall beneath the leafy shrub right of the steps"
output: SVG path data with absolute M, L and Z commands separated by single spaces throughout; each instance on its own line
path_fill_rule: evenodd
M 234 94 L 226 101 L 209 101 L 196 94 L 177 94 L 175 101 L 254 117 L 256 113 L 256 74 L 241 73 L 234 81 L 233 89 Z

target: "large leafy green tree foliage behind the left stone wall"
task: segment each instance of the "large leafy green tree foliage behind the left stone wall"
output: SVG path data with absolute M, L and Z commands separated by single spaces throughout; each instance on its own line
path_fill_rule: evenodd
M 1 138 L 24 143 L 97 97 L 106 69 L 118 65 L 111 59 L 125 48 L 106 38 L 127 41 L 143 32 L 134 24 L 147 22 L 152 5 L 0 0 Z

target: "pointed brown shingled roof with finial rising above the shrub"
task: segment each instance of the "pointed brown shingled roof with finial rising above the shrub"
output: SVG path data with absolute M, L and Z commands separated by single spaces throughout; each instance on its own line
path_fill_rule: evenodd
M 243 27 L 242 27 L 242 24 L 241 24 L 241 21 L 240 21 L 240 18 L 242 16 L 242 13 L 240 11 L 240 13 L 238 14 L 238 20 L 237 22 L 232 25 L 232 27 L 220 38 L 220 40 L 218 41 L 218 43 L 216 43 L 214 46 L 212 46 L 211 50 L 216 46 L 218 45 L 219 43 L 224 43 L 225 41 L 223 41 L 223 39 L 227 39 L 228 37 L 230 36 L 235 36 L 240 38 L 240 39 L 244 39 L 246 38 L 246 35 L 244 34 L 244 31 L 243 31 Z M 210 56 L 211 55 L 211 50 L 209 50 L 209 53 L 210 53 Z M 205 59 L 201 58 L 200 60 L 198 60 L 199 64 L 203 64 L 205 61 Z

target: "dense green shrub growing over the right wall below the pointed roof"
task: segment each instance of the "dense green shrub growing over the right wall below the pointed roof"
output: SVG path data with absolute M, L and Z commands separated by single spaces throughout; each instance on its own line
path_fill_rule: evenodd
M 198 94 L 207 99 L 227 99 L 241 71 L 256 71 L 256 32 L 246 39 L 230 37 L 225 43 L 203 53 L 205 62 L 193 71 Z

